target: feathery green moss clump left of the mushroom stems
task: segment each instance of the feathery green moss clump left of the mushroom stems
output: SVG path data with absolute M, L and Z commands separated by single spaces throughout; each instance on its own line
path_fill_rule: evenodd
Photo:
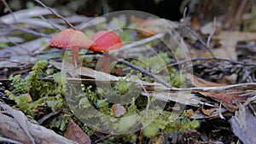
M 24 79 L 20 75 L 10 76 L 11 88 L 5 91 L 22 111 L 32 117 L 38 107 L 49 107 L 52 112 L 56 112 L 64 103 L 61 77 L 56 74 L 54 82 L 40 79 L 48 76 L 45 71 L 47 64 L 46 60 L 39 60 Z

